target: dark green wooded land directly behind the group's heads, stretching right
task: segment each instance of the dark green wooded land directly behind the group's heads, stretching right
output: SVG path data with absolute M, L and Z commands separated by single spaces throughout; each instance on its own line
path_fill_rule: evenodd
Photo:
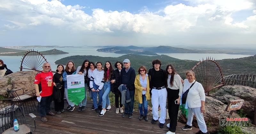
M 152 68 L 152 60 L 160 59 L 162 61 L 162 69 L 166 68 L 168 63 L 171 63 L 178 74 L 182 78 L 185 77 L 185 72 L 196 65 L 199 61 L 193 60 L 180 60 L 177 58 L 173 58 L 166 55 L 158 55 L 158 56 L 142 56 L 142 55 L 135 55 L 135 54 L 127 54 L 120 57 L 100 57 L 100 56 L 68 56 L 65 58 L 61 58 L 55 61 L 55 64 L 63 64 L 66 65 L 68 61 L 73 61 L 75 63 L 75 67 L 81 66 L 85 59 L 93 62 L 101 62 L 104 66 L 106 61 L 110 61 L 112 66 L 116 61 L 123 62 L 124 59 L 128 58 L 131 61 L 131 66 L 135 69 L 136 73 L 138 68 L 142 65 L 146 66 L 149 70 Z M 255 64 L 256 64 L 256 55 L 244 57 L 244 58 L 237 58 L 237 59 L 223 59 L 223 60 L 216 60 L 219 63 L 223 75 L 231 75 L 231 74 L 242 74 L 242 73 L 256 73 Z M 115 68 L 115 67 L 114 67 Z

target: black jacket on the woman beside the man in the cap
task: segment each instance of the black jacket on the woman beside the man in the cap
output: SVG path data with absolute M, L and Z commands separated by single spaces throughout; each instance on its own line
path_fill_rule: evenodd
M 119 94 L 119 90 L 118 87 L 120 86 L 120 74 L 119 74 L 119 70 L 116 69 L 115 71 L 113 71 L 110 80 L 116 79 L 115 83 L 110 83 L 110 90 L 111 92 L 115 93 L 115 94 Z

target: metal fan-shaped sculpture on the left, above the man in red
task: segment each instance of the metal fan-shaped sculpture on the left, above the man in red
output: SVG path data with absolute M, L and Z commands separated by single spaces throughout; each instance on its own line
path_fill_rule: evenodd
M 22 69 L 41 71 L 43 70 L 43 64 L 47 62 L 44 56 L 40 52 L 34 51 L 34 49 L 28 50 L 22 57 L 20 71 Z

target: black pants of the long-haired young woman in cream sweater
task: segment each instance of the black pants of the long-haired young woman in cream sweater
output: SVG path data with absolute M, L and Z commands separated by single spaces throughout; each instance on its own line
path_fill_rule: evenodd
M 179 113 L 179 106 L 175 104 L 175 100 L 179 98 L 179 91 L 180 90 L 173 90 L 167 88 L 167 96 L 168 96 L 168 114 L 170 118 L 170 128 L 169 131 L 175 132 L 177 126 L 177 118 Z

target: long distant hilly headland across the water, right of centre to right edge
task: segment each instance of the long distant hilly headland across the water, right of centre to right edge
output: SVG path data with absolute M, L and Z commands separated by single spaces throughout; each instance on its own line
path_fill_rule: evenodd
M 156 53 L 218 53 L 218 54 L 244 54 L 244 55 L 254 55 L 254 51 L 244 51 L 244 50 L 222 50 L 222 49 L 186 49 L 186 48 L 176 48 L 170 46 L 158 46 L 158 47 L 137 47 L 137 46 L 127 46 L 127 47 L 104 47 L 97 49 L 99 52 L 107 53 L 121 53 L 121 54 L 139 54 L 139 55 L 156 55 Z

